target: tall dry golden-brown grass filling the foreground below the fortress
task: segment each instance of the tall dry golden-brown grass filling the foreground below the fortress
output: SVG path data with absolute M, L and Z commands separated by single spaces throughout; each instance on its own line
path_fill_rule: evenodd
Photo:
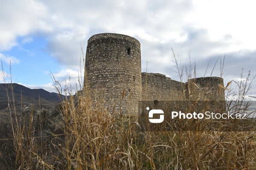
M 181 70 L 179 74 L 182 75 Z M 61 93 L 57 82 L 55 87 Z M 248 87 L 242 87 L 238 94 L 247 91 Z M 10 103 L 13 100 L 9 96 Z M 10 115 L 15 115 L 10 116 L 11 128 L 1 127 L 9 131 L 0 139 L 0 170 L 253 170 L 256 167 L 254 131 L 140 131 L 137 116 L 122 115 L 119 111 L 110 113 L 103 103 L 104 99 L 92 100 L 89 91 L 75 100 L 64 99 L 59 122 L 63 129 L 48 134 L 36 133 L 46 127 L 43 123 L 35 125 L 33 111 L 25 125 L 13 105 L 9 108 Z M 241 105 L 227 109 L 244 111 Z M 189 127 L 191 121 L 183 121 L 182 125 Z M 201 126 L 207 125 L 201 122 Z

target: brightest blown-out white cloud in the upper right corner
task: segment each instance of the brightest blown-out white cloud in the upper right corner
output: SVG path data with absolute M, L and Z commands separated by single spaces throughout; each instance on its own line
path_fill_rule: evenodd
M 255 49 L 253 40 L 256 38 L 253 30 L 256 25 L 252 23 L 253 16 L 256 15 L 255 1 L 240 0 L 233 1 L 205 1 L 195 0 L 194 10 L 189 13 L 188 19 L 207 28 L 209 40 L 219 41 L 225 34 L 232 35 L 234 42 L 230 43 L 229 52 L 237 48 Z M 240 41 L 240 44 L 236 42 Z

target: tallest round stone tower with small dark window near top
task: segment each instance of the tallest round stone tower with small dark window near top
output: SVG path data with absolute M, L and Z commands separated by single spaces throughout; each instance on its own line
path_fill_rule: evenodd
M 84 75 L 84 87 L 93 99 L 104 99 L 111 112 L 120 111 L 120 106 L 123 113 L 137 112 L 142 91 L 140 42 L 122 34 L 93 35 L 87 43 Z

